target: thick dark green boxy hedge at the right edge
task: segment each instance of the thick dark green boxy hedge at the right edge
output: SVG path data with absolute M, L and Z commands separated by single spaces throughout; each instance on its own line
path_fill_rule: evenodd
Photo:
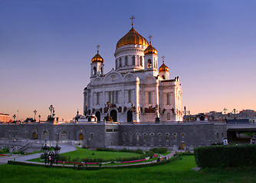
M 256 146 L 204 146 L 194 149 L 196 164 L 204 168 L 256 165 Z

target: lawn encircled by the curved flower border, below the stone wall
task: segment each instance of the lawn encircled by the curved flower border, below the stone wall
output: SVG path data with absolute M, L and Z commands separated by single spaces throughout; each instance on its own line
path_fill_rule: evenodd
M 94 153 L 94 155 L 93 155 Z M 91 158 L 91 159 L 117 159 L 117 158 L 130 158 L 130 157 L 139 157 L 142 154 L 134 153 L 134 152 L 110 152 L 110 151 L 96 151 L 96 150 L 88 150 L 77 147 L 77 150 L 71 152 L 62 153 L 61 156 L 70 156 L 71 160 L 84 158 Z M 31 159 L 31 162 L 41 162 L 40 159 Z

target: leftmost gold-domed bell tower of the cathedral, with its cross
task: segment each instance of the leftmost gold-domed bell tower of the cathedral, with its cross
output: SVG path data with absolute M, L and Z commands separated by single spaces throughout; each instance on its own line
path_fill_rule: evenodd
M 103 75 L 103 58 L 99 54 L 100 45 L 97 45 L 97 54 L 91 59 L 90 80 L 92 81 L 98 75 Z

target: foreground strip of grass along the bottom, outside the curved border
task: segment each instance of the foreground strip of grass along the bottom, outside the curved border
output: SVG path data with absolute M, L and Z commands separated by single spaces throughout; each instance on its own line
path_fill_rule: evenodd
M 193 156 L 182 160 L 140 169 L 102 169 L 77 171 L 73 169 L 49 169 L 21 165 L 0 165 L 2 182 L 256 182 L 255 169 L 207 169 L 201 172 L 195 167 Z

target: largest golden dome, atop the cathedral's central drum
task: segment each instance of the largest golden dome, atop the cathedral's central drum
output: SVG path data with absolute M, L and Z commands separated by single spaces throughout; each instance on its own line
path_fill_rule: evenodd
M 117 42 L 117 48 L 127 44 L 139 44 L 149 46 L 149 42 L 132 27 L 131 30 Z

